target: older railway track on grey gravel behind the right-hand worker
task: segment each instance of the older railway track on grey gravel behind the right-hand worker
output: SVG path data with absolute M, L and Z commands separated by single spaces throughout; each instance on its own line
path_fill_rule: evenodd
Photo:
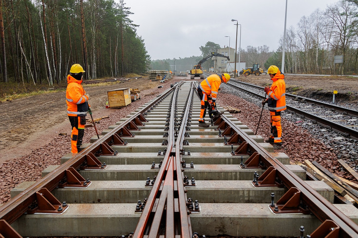
M 263 87 L 232 79 L 227 85 L 236 90 L 252 94 L 260 100 L 264 99 Z M 314 99 L 286 93 L 287 110 L 298 114 L 302 119 L 311 120 L 328 130 L 334 130 L 344 137 L 358 139 L 358 111 L 340 107 Z

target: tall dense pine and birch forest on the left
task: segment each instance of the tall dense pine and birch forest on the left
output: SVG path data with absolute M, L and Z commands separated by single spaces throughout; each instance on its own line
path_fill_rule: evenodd
M 131 14 L 124 0 L 0 0 L 2 81 L 52 86 L 75 63 L 86 79 L 146 72 Z

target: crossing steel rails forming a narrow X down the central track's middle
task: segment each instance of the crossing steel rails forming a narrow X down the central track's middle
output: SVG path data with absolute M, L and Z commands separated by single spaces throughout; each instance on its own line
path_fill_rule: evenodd
M 188 238 L 192 235 L 190 218 L 187 210 L 186 193 L 183 185 L 183 171 L 181 169 L 182 159 L 180 149 L 178 149 L 182 148 L 184 141 L 184 133 L 187 127 L 190 107 L 192 105 L 192 89 L 193 83 L 190 85 L 190 92 L 186 103 L 187 107 L 182 116 L 181 127 L 176 142 L 174 128 L 178 90 L 173 93 L 170 109 L 169 142 L 165 160 L 163 161 L 163 165 L 165 166 L 162 165 L 159 170 L 146 206 L 134 231 L 134 238 L 142 238 L 146 235 L 148 235 L 148 238 L 156 238 L 160 236 L 159 231 L 164 211 L 166 211 L 166 237 L 180 235 L 182 238 Z M 174 183 L 176 183 L 176 186 L 174 186 Z M 177 200 L 178 203 L 180 220 L 176 220 L 174 211 L 175 200 Z M 155 212 L 153 211 L 154 205 Z M 152 217 L 152 219 L 149 219 L 150 217 Z M 179 234 L 175 234 L 176 231 L 180 231 Z

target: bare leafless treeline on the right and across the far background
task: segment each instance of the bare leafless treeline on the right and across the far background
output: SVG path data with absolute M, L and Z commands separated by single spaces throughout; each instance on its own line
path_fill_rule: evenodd
M 272 34 L 270 37 L 278 36 L 280 34 Z M 283 36 L 278 40 L 282 45 Z M 220 45 L 208 41 L 205 46 L 199 47 L 201 56 L 183 58 L 175 64 L 178 67 L 184 65 L 183 68 L 189 70 L 194 64 L 193 59 L 198 62 L 210 51 L 219 48 Z M 343 62 L 334 64 L 335 55 L 343 55 Z M 247 46 L 246 49 L 241 49 L 240 58 L 242 62 L 246 62 L 246 67 L 259 63 L 264 69 L 270 65 L 281 68 L 282 47 L 270 51 L 267 45 Z M 160 61 L 162 62 L 158 64 Z M 151 67 L 169 69 L 168 67 L 173 65 L 172 62 L 172 59 L 156 60 L 151 62 Z M 210 66 L 211 60 L 203 64 L 203 68 Z M 340 0 L 327 6 L 325 10 L 317 9 L 310 16 L 301 17 L 296 27 L 286 29 L 284 72 L 358 74 L 358 0 Z

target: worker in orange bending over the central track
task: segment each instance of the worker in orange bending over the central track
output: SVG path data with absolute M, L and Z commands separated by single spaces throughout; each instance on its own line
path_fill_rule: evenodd
M 201 110 L 199 118 L 199 127 L 209 127 L 210 125 L 205 123 L 205 115 L 207 108 L 210 110 L 215 109 L 215 102 L 218 94 L 220 84 L 222 82 L 227 83 L 230 80 L 230 74 L 212 74 L 204 79 L 198 86 L 198 93 L 201 99 Z M 214 113 L 214 120 L 220 117 L 224 112 L 216 111 Z

